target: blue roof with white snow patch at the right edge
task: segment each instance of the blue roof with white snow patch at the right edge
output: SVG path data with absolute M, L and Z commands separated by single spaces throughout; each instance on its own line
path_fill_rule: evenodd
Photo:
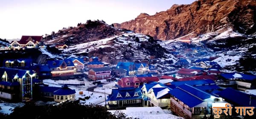
M 224 77 L 225 79 L 244 79 L 244 80 L 249 80 L 249 81 L 253 81 L 256 79 L 255 75 L 247 75 L 247 74 L 241 74 L 241 73 L 225 73 L 225 74 L 221 74 L 222 77 Z

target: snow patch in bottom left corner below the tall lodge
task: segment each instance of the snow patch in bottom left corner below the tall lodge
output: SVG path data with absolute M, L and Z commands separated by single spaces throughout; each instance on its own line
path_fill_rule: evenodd
M 16 107 L 23 107 L 24 103 L 7 103 L 7 102 L 1 102 L 0 107 L 2 110 L 0 110 L 0 113 L 10 114 L 12 113 L 13 109 Z

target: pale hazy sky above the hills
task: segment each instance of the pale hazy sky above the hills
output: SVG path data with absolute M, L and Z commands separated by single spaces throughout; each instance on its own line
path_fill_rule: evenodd
M 0 0 L 0 38 L 44 35 L 87 20 L 122 23 L 195 0 Z

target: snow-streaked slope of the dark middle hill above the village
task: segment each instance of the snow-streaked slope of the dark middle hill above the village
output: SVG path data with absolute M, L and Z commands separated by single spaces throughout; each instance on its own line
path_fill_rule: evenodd
M 96 40 L 70 46 L 64 50 L 65 54 L 99 54 L 117 60 L 143 60 L 149 59 L 150 55 L 158 55 L 159 58 L 174 58 L 167 54 L 164 48 L 157 42 L 150 41 L 150 37 L 133 32 L 117 35 L 114 37 Z M 175 59 L 174 59 L 175 60 Z

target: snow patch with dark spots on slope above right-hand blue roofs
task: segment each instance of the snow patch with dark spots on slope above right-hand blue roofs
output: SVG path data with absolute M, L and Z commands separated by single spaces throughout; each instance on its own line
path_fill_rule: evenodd
M 212 62 L 217 62 L 222 68 L 225 66 L 236 65 L 236 62 L 241 58 L 241 56 L 221 56 L 214 59 Z

